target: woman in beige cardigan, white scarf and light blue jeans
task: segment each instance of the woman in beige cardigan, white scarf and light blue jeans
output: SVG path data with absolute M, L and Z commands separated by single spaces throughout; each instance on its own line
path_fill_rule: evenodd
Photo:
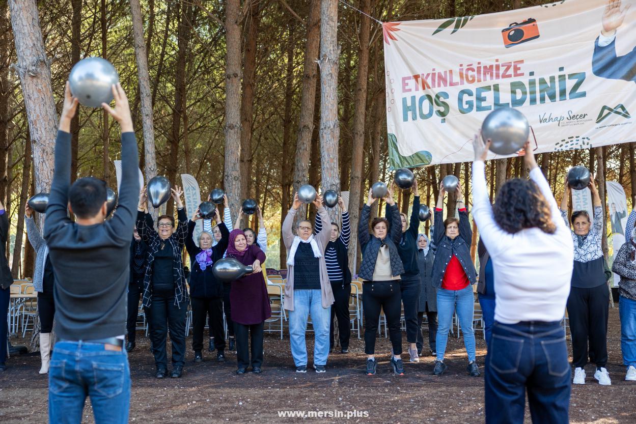
M 287 248 L 287 284 L 285 284 L 284 308 L 289 311 L 289 341 L 294 357 L 296 373 L 307 373 L 308 317 L 312 317 L 314 328 L 314 369 L 324 373 L 329 356 L 329 320 L 334 301 L 324 249 L 331 236 L 331 220 L 322 206 L 322 197 L 314 200 L 322 221 L 322 230 L 313 234 L 312 223 L 306 219 L 298 221 L 294 236 L 292 226 L 296 211 L 301 205 L 298 193 L 282 223 L 282 238 Z

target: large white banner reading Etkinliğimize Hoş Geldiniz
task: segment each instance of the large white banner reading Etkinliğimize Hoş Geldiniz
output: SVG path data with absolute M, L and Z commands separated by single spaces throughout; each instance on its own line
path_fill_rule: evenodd
M 500 107 L 526 116 L 536 153 L 635 140 L 636 10 L 603 37 L 606 1 L 384 23 L 391 168 L 472 161 Z

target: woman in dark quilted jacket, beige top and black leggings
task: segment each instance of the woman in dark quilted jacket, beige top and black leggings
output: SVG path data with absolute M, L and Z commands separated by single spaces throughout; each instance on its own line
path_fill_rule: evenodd
M 358 224 L 358 240 L 363 252 L 363 261 L 359 275 L 364 279 L 362 303 L 364 308 L 364 353 L 366 353 L 366 374 L 375 374 L 377 361 L 375 360 L 375 338 L 378 332 L 380 310 L 384 310 L 391 337 L 392 355 L 391 366 L 393 373 L 404 375 L 402 363 L 402 332 L 400 330 L 401 291 L 400 274 L 404 273 L 402 260 L 397 252 L 396 243 L 402 236 L 402 224 L 393 201 L 391 191 L 384 198 L 389 204 L 391 212 L 391 234 L 389 222 L 386 218 L 377 217 L 371 222 L 369 233 L 369 218 L 371 205 L 375 198 L 369 190 L 369 199 L 362 209 Z

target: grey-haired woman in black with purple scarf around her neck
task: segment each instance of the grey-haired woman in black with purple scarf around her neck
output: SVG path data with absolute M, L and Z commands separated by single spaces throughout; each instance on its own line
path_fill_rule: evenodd
M 219 210 L 215 211 L 217 224 L 220 224 Z M 190 304 L 192 306 L 192 349 L 195 351 L 195 362 L 203 360 L 203 331 L 205 318 L 209 317 L 210 338 L 214 338 L 217 350 L 216 360 L 225 361 L 225 336 L 223 334 L 223 283 L 214 277 L 212 265 L 223 258 L 228 247 L 230 235 L 225 225 L 219 225 L 221 240 L 212 246 L 214 238 L 207 231 L 198 236 L 198 246 L 192 239 L 196 222 L 201 219 L 199 211 L 188 221 L 186 249 L 190 255 L 192 271 L 190 273 Z

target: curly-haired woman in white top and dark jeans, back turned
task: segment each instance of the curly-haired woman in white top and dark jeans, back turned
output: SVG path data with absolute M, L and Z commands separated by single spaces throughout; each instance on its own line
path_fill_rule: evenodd
M 530 179 L 510 179 L 494 206 L 486 185 L 490 140 L 475 135 L 473 219 L 490 254 L 495 324 L 486 357 L 487 424 L 523 423 L 526 393 L 532 422 L 569 422 L 570 364 L 561 319 L 570 292 L 574 247 L 570 229 L 530 142 Z

